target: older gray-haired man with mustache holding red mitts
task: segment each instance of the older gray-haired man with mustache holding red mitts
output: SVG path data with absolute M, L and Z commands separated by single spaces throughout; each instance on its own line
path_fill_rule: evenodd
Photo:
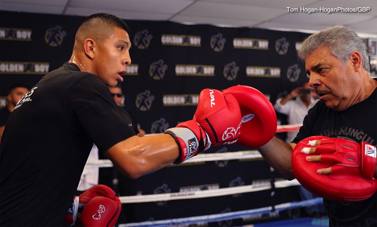
M 305 60 L 305 69 L 310 75 L 309 85 L 315 89 L 320 101 L 308 111 L 303 126 L 290 144 L 274 137 L 258 148 L 263 158 L 287 179 L 295 178 L 291 155 L 296 144 L 305 138 L 324 136 L 336 138 L 334 141 L 347 139 L 359 147 L 362 142 L 372 144 L 372 147 L 377 144 L 377 80 L 369 75 L 368 56 L 360 37 L 346 26 L 327 28 L 303 41 L 299 57 Z M 361 133 L 350 133 L 351 130 Z M 335 143 L 334 146 L 337 150 L 343 149 Z M 312 149 L 309 154 L 307 166 L 310 166 L 310 162 L 321 160 L 321 155 L 313 155 Z M 371 175 L 375 178 L 375 163 L 372 160 L 369 166 L 360 165 L 360 170 L 356 172 L 368 168 L 374 170 Z M 311 174 L 314 177 L 318 174 L 328 175 L 339 166 L 317 168 Z M 347 171 L 345 169 L 343 175 L 354 174 Z M 325 179 L 331 184 L 331 177 Z M 367 179 L 360 180 L 365 182 Z M 333 186 L 339 187 L 339 184 L 340 181 L 337 181 Z M 377 226 L 376 193 L 359 202 L 333 199 L 323 199 L 323 202 L 330 226 Z

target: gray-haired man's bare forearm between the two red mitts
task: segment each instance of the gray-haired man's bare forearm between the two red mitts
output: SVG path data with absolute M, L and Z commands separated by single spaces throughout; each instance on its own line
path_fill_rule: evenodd
M 291 166 L 292 147 L 276 137 L 273 137 L 267 144 L 258 148 L 271 167 L 283 175 L 286 179 L 294 179 Z

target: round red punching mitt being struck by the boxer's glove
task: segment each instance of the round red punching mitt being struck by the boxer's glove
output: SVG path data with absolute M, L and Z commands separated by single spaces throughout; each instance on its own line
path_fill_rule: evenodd
M 242 133 L 238 138 L 238 145 L 260 147 L 274 137 L 276 113 L 262 92 L 253 87 L 237 85 L 222 90 L 222 94 L 233 95 L 241 109 Z

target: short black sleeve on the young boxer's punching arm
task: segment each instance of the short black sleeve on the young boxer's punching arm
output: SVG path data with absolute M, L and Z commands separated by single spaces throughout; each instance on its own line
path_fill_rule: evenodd
M 130 118 L 93 74 L 80 76 L 67 91 L 67 102 L 84 131 L 101 151 L 135 134 Z

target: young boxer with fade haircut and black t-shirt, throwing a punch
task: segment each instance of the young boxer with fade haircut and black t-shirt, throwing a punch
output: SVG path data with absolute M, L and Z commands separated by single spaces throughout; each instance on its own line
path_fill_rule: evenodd
M 215 89 L 199 95 L 195 120 L 162 135 L 136 136 L 108 89 L 123 81 L 131 63 L 129 34 L 114 15 L 90 15 L 78 28 L 69 63 L 14 107 L 1 141 L 1 226 L 63 226 L 93 143 L 120 172 L 138 178 L 238 139 L 238 103 Z M 233 134 L 221 138 L 227 130 Z

